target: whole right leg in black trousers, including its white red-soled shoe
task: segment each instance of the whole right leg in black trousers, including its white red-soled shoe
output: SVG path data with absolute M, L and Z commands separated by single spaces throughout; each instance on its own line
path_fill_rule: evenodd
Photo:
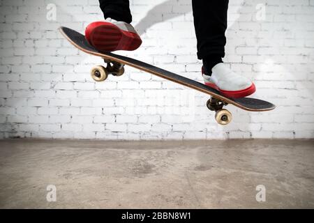
M 230 98 L 255 92 L 251 80 L 225 66 L 225 30 L 228 0 L 192 0 L 197 57 L 203 61 L 202 75 L 207 86 Z

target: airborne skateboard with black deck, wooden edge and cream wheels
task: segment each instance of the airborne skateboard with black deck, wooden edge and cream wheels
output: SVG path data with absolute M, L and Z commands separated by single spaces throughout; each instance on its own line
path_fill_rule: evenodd
M 223 108 L 228 104 L 234 105 L 249 112 L 265 112 L 275 108 L 275 105 L 271 104 L 270 102 L 255 98 L 226 98 L 225 96 L 221 95 L 219 91 L 212 89 L 205 84 L 196 82 L 181 75 L 174 74 L 173 72 L 157 68 L 156 66 L 152 66 L 148 63 L 137 61 L 136 59 L 126 56 L 112 54 L 111 52 L 98 52 L 97 49 L 88 43 L 84 35 L 74 31 L 73 29 L 61 26 L 59 31 L 72 45 L 77 47 L 77 49 L 80 49 L 87 54 L 100 56 L 104 59 L 105 66 L 95 66 L 91 69 L 91 77 L 96 82 L 105 81 L 108 75 L 123 75 L 125 65 L 137 68 L 144 72 L 151 73 L 152 75 L 162 77 L 171 82 L 176 82 L 177 84 L 187 86 L 190 89 L 195 89 L 210 95 L 211 98 L 209 98 L 207 101 L 207 107 L 211 111 L 216 112 L 216 121 L 221 125 L 227 125 L 230 123 L 230 121 L 232 121 L 232 114 L 227 109 Z

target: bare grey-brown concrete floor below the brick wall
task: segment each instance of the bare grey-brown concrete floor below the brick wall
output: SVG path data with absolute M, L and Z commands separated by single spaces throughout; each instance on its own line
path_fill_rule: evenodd
M 0 208 L 314 208 L 313 145 L 2 140 Z M 47 202 L 47 185 L 57 187 L 56 202 Z

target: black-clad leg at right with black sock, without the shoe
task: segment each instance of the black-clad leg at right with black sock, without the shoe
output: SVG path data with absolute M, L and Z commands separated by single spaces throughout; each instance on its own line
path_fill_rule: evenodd
M 225 56 L 228 3 L 228 0 L 192 0 L 197 57 L 203 60 L 208 75 Z

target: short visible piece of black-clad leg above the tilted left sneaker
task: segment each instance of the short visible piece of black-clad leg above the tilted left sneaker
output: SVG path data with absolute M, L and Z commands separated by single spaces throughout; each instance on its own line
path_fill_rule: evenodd
M 128 0 L 99 0 L 100 8 L 103 11 L 105 20 L 113 20 L 131 23 L 130 3 Z

